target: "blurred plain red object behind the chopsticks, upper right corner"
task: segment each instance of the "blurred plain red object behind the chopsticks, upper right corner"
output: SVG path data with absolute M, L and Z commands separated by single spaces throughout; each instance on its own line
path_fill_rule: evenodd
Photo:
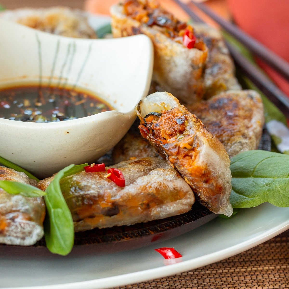
M 289 62 L 288 0 L 227 0 L 236 24 Z M 288 82 L 264 62 L 258 64 L 289 96 Z

